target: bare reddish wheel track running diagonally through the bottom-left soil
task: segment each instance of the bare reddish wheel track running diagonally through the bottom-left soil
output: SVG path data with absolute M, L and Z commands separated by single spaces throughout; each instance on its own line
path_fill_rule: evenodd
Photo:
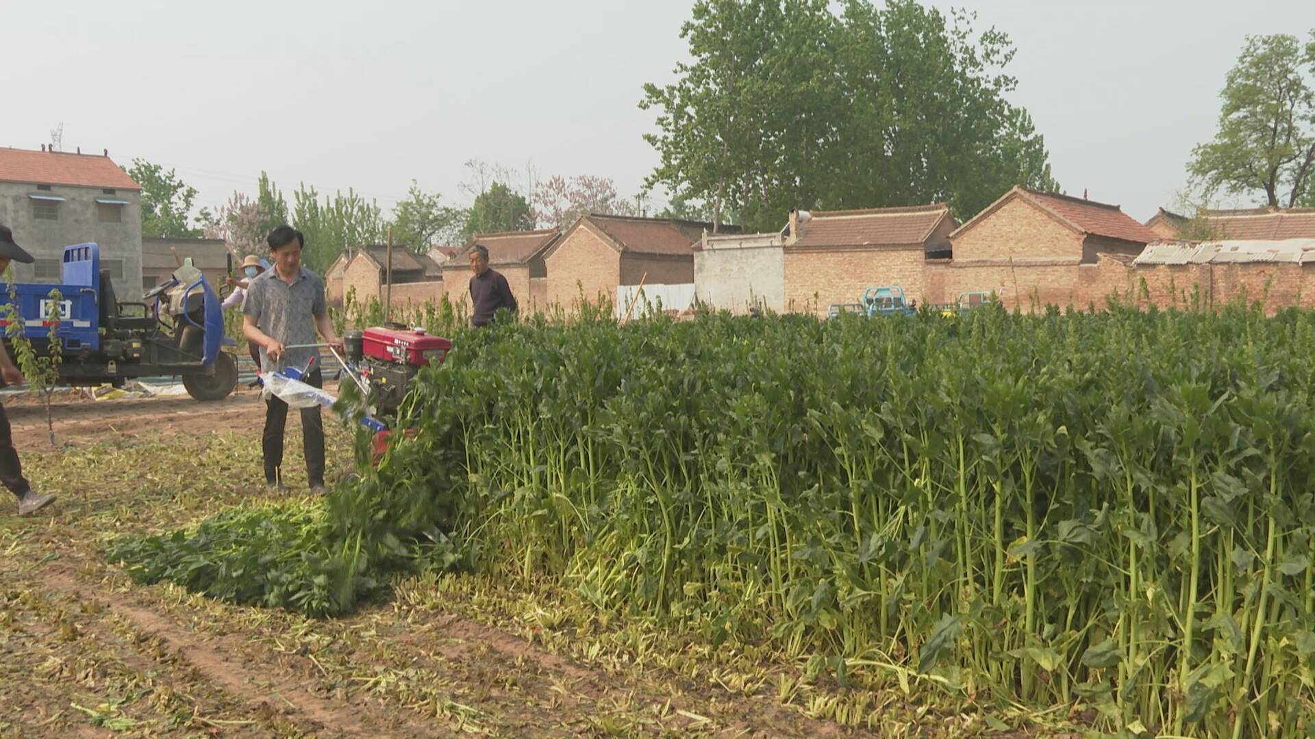
M 284 706 L 289 706 L 299 714 L 299 718 L 312 726 L 321 727 L 330 732 L 346 736 L 392 736 L 389 730 L 368 728 L 363 721 L 363 714 L 373 713 L 367 706 L 341 705 L 334 701 L 321 698 L 305 688 L 297 680 L 276 677 L 271 672 L 260 676 L 252 673 L 235 656 L 230 656 L 220 648 L 214 648 L 193 635 L 180 630 L 170 618 L 150 609 L 133 605 L 126 598 L 114 593 L 93 593 L 68 572 L 59 569 L 47 571 L 42 580 L 53 589 L 74 596 L 82 601 L 95 604 L 110 613 L 128 619 L 133 626 L 145 634 L 158 636 L 183 660 L 195 667 L 204 677 L 221 686 L 233 697 L 249 702 L 254 706 L 274 706 L 275 697 L 281 698 Z M 222 647 L 226 643 L 238 640 L 237 636 L 221 636 L 216 642 Z M 233 644 L 237 647 L 237 644 Z M 238 651 L 238 650 L 234 650 Z M 256 680 L 268 682 L 268 689 L 256 685 Z M 389 711 L 389 717 L 401 722 L 401 731 L 408 736 L 447 736 L 447 732 L 435 734 L 433 725 L 422 723 L 401 711 Z

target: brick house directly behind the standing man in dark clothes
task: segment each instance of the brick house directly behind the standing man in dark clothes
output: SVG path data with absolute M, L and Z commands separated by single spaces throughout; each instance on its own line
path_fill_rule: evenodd
M 469 301 L 471 250 L 479 245 L 489 250 L 489 267 L 506 277 L 521 312 L 543 310 L 547 306 L 544 252 L 560 238 L 562 231 L 556 229 L 472 235 L 460 251 L 442 264 L 447 298 L 452 302 Z

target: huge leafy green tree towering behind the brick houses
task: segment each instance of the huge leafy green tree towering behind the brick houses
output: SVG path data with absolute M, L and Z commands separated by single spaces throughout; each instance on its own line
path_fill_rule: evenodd
M 644 85 L 658 112 L 646 180 L 677 201 L 776 229 L 792 208 L 948 200 L 976 213 L 1010 185 L 1056 189 L 1043 138 L 1005 96 L 1009 38 L 913 0 L 700 0 L 690 63 Z

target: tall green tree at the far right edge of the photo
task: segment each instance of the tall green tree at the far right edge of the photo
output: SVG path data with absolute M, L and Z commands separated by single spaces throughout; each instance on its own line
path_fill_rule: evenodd
M 1219 130 L 1191 151 L 1206 196 L 1257 196 L 1270 206 L 1315 203 L 1315 30 L 1248 36 L 1219 93 Z

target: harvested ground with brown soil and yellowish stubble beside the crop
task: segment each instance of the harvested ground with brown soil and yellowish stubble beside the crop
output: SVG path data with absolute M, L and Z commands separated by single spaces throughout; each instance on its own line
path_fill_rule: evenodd
M 401 581 L 342 619 L 138 586 L 104 560 L 116 536 L 274 500 L 263 405 L 191 398 L 7 404 L 29 477 L 59 501 L 0 505 L 0 736 L 842 736 L 965 735 L 890 693 L 797 680 L 767 655 L 626 627 L 535 583 Z M 296 414 L 289 418 L 296 426 Z M 326 423 L 347 471 L 348 431 Z M 288 431 L 280 498 L 306 494 Z M 333 471 L 331 471 L 333 472 Z M 885 696 L 885 697 L 882 697 Z M 843 726 L 836 702 L 855 705 Z M 814 718 L 827 715 L 828 719 Z M 874 718 L 876 717 L 876 718 Z

